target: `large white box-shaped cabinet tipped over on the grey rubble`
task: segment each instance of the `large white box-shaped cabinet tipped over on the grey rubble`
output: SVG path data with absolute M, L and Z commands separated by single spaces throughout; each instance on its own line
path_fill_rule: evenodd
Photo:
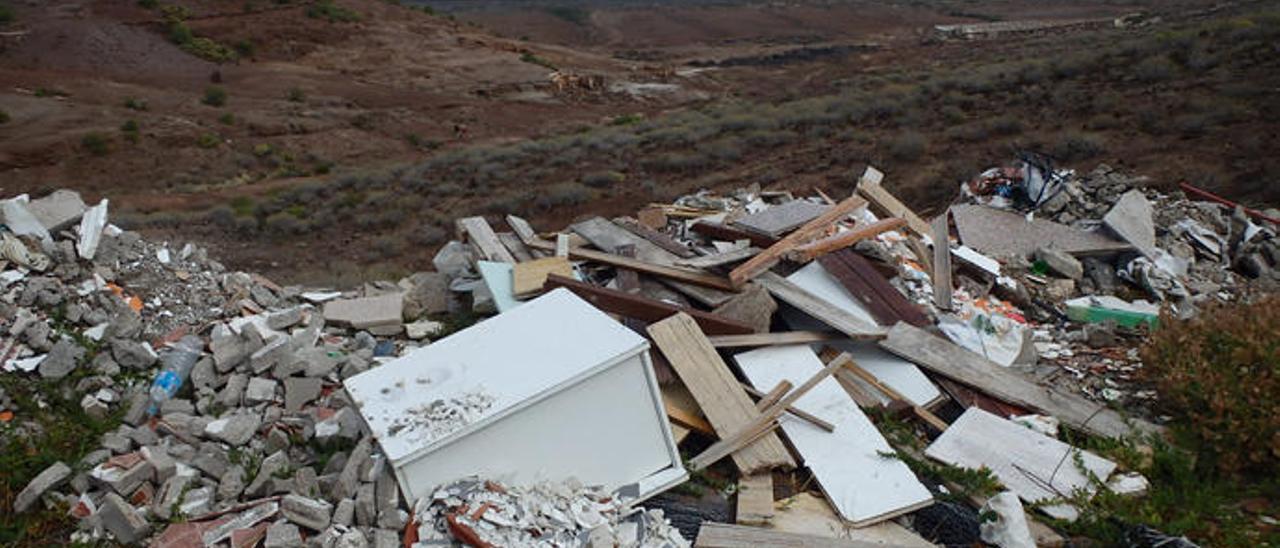
M 684 475 L 648 347 L 554 289 L 344 384 L 410 499 L 472 474 L 617 488 Z

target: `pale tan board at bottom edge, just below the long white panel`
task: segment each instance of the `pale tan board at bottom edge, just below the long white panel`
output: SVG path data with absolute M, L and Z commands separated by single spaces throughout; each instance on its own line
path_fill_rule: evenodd
M 868 528 L 854 528 L 840 519 L 826 498 L 813 493 L 796 493 L 782 501 L 773 503 L 774 513 L 772 526 L 780 533 L 795 533 L 803 535 L 820 536 L 828 542 L 822 545 L 836 545 L 832 540 L 861 540 L 874 543 L 874 545 L 887 548 L 933 548 L 933 543 L 924 540 L 910 529 L 897 525 L 895 521 L 881 521 Z

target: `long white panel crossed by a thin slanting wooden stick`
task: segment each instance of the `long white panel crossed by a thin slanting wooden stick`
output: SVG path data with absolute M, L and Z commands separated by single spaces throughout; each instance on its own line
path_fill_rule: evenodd
M 748 382 L 762 391 L 782 380 L 800 385 L 823 369 L 818 355 L 804 344 L 759 348 L 733 359 Z M 790 414 L 778 417 L 842 519 L 855 526 L 870 525 L 933 502 L 906 463 L 882 455 L 892 447 L 835 379 L 818 383 L 795 406 L 836 426 L 828 433 Z

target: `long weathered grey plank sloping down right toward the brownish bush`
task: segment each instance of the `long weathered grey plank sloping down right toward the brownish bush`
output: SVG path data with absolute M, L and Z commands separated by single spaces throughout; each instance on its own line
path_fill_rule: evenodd
M 1018 371 L 1000 365 L 908 324 L 893 325 L 881 347 L 938 375 L 983 391 L 998 399 L 1056 416 L 1062 424 L 1091 434 L 1117 438 L 1158 433 L 1162 428 L 1140 419 L 1126 419 L 1070 392 L 1041 387 Z

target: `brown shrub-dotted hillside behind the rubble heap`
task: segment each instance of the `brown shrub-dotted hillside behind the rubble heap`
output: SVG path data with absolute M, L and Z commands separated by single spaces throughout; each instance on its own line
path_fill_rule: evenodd
M 1268 3 L 1212 13 L 1199 0 L 1146 3 L 1162 18 L 1149 28 L 974 42 L 940 42 L 931 28 L 1101 19 L 1144 3 L 449 18 L 337 0 L 358 22 L 308 17 L 310 0 L 174 4 L 189 9 L 196 36 L 252 52 L 201 60 L 169 41 L 159 10 L 134 3 L 18 6 L 0 33 L 3 193 L 110 196 L 114 218 L 152 236 L 196 238 L 238 268 L 312 282 L 426 266 L 462 214 L 511 211 L 553 228 L 699 187 L 841 192 L 868 163 L 927 213 L 957 181 L 1024 147 L 1280 201 L 1280 51 L 1233 50 L 1231 29 L 1243 24 L 1233 17 Z M 1197 24 L 1230 32 L 1185 31 Z M 1144 56 L 1160 63 L 1138 67 Z M 557 88 L 545 64 L 603 85 Z M 215 79 L 223 106 L 201 102 Z M 105 141 L 99 154 L 90 134 Z M 626 183 L 582 183 L 603 172 Z

